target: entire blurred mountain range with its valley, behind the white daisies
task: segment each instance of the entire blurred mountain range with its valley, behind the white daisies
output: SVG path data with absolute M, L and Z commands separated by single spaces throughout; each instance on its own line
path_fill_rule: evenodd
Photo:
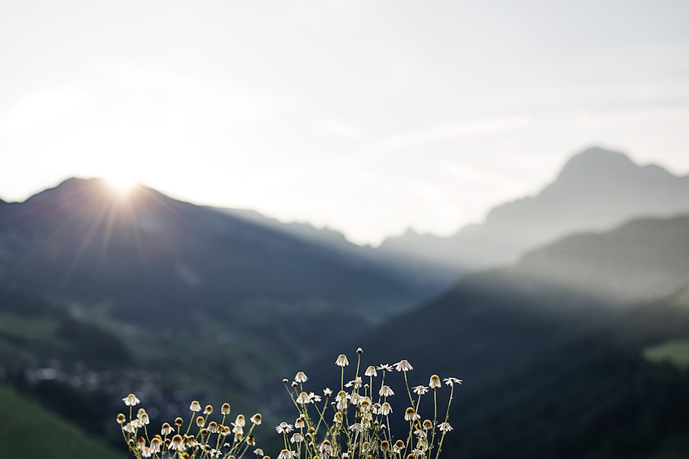
M 103 429 L 89 384 L 165 417 L 172 398 L 261 400 L 297 369 L 321 389 L 362 346 L 409 359 L 413 384 L 464 379 L 449 457 L 686 457 L 688 260 L 689 178 L 601 149 L 484 224 L 380 248 L 70 179 L 0 201 L 0 375 Z

